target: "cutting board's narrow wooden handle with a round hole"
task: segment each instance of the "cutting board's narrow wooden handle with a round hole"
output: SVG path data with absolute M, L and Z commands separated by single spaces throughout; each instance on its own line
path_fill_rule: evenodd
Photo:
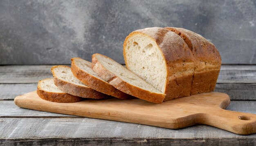
M 228 111 L 222 108 L 207 114 L 205 124 L 240 135 L 256 133 L 256 114 Z

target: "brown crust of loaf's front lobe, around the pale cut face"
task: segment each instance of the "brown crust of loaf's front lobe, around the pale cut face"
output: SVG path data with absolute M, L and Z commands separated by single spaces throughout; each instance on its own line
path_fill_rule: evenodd
M 160 27 L 140 29 L 130 33 L 124 41 L 124 60 L 129 69 L 126 58 L 128 39 L 141 34 L 156 42 L 166 62 L 166 86 L 164 101 L 178 97 L 189 96 L 193 80 L 194 58 L 188 45 L 179 35 Z

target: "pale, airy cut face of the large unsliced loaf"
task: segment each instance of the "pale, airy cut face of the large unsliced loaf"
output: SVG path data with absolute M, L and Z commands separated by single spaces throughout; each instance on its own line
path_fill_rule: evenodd
M 140 33 L 129 36 L 124 45 L 124 58 L 130 71 L 164 93 L 166 63 L 153 39 Z

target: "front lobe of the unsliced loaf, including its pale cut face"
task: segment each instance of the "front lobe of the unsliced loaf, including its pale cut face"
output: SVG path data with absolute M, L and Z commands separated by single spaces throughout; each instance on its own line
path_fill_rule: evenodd
M 124 60 L 127 69 L 166 94 L 164 101 L 190 95 L 194 58 L 176 33 L 160 27 L 133 31 L 124 41 Z

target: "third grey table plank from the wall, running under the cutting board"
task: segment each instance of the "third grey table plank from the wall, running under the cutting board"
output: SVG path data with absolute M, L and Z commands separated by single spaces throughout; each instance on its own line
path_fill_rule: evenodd
M 256 114 L 256 101 L 231 101 L 227 107 L 230 111 Z M 19 108 L 13 101 L 0 101 L 0 117 L 75 117 L 42 111 Z

